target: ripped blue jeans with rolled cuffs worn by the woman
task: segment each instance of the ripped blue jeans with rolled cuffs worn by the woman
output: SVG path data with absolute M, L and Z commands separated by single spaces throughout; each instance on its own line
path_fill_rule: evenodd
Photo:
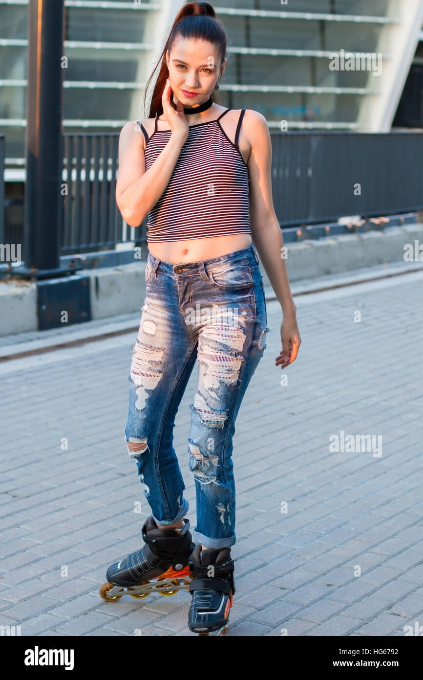
M 174 419 L 194 364 L 189 471 L 196 486 L 195 543 L 236 541 L 232 438 L 249 381 L 263 356 L 267 311 L 252 245 L 172 265 L 149 253 L 145 304 L 130 366 L 125 436 L 157 524 L 184 517 L 188 502 L 172 445 Z M 133 447 L 134 448 L 134 447 Z

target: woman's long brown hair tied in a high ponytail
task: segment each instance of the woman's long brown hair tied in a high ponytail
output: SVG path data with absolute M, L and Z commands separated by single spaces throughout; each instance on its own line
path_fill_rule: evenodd
M 217 47 L 220 65 L 226 56 L 227 39 L 223 24 L 216 18 L 215 10 L 208 2 L 189 2 L 181 7 L 179 10 L 166 40 L 163 52 L 160 55 L 158 63 L 155 65 L 151 73 L 144 92 L 144 111 L 146 110 L 147 89 L 155 70 L 159 65 L 160 71 L 158 79 L 155 82 L 153 96 L 151 97 L 149 118 L 161 116 L 163 113 L 162 95 L 166 79 L 169 76 L 168 65 L 166 64 L 166 50 L 169 50 L 177 37 L 202 39 L 210 42 Z M 213 101 L 220 103 L 219 95 L 215 92 L 211 95 Z

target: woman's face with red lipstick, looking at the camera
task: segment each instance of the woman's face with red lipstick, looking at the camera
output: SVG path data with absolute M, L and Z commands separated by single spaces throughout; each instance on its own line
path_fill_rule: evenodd
M 214 45 L 205 40 L 177 37 L 166 50 L 170 87 L 183 105 L 199 105 L 208 100 L 225 70 Z

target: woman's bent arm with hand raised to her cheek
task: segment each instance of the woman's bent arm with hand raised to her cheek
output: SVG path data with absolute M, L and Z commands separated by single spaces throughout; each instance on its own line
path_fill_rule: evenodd
M 147 172 L 143 143 L 145 137 L 139 124 L 134 121 L 128 122 L 120 133 L 116 203 L 122 217 L 130 226 L 139 226 L 162 196 L 188 136 L 189 129 L 183 106 L 178 101 L 175 111 L 170 105 L 170 95 L 170 84 L 167 81 L 162 94 L 162 105 L 172 134 Z

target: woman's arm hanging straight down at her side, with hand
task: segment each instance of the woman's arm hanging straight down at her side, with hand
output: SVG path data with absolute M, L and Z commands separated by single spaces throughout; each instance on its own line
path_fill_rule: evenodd
M 282 307 L 282 352 L 276 365 L 282 369 L 297 357 L 301 339 L 296 320 L 296 305 L 289 286 L 287 267 L 281 258 L 282 231 L 272 200 L 272 143 L 268 123 L 257 111 L 246 109 L 244 137 L 250 144 L 250 222 L 251 235 L 272 288 Z

